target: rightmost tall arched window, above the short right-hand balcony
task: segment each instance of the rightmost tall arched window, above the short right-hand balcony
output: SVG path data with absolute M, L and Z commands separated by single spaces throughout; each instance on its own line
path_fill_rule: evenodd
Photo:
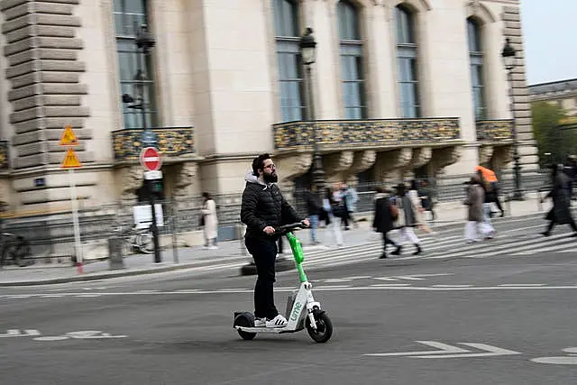
M 472 102 L 475 106 L 475 119 L 481 120 L 487 117 L 483 80 L 483 48 L 481 45 L 481 26 L 473 19 L 467 19 L 467 37 L 471 66 Z

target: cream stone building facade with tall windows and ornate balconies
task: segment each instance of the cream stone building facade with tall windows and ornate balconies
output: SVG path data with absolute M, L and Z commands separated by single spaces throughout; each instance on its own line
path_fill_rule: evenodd
M 69 205 L 66 124 L 85 206 L 138 200 L 143 119 L 163 196 L 183 202 L 240 192 L 263 151 L 292 188 L 314 142 L 329 181 L 506 167 L 506 37 L 521 161 L 536 163 L 518 0 L 0 0 L 0 11 L 0 200 L 16 211 Z M 156 41 L 146 58 L 141 24 Z M 314 103 L 298 54 L 307 27 Z M 122 100 L 136 86 L 144 117 Z

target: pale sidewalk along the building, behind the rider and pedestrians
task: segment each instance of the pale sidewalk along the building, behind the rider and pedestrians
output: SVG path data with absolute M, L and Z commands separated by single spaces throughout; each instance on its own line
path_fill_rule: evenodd
M 527 216 L 544 213 L 550 207 L 550 203 L 539 205 L 535 196 L 527 197 L 525 201 L 503 202 L 507 217 Z M 466 207 L 462 202 L 451 202 L 439 204 L 435 207 L 437 216 L 435 222 L 431 223 L 434 229 L 460 225 L 466 215 Z M 358 215 L 366 220 L 360 222 L 359 228 L 352 228 L 350 231 L 343 231 L 346 246 L 354 246 L 366 243 L 367 239 L 376 240 L 379 236 L 371 231 L 371 215 Z M 499 221 L 499 219 L 497 219 Z M 319 239 L 330 243 L 330 234 L 325 234 L 325 229 L 319 229 Z M 326 250 L 330 252 L 330 247 L 323 245 L 310 245 L 308 232 L 299 234 L 305 252 Z M 284 252 L 289 252 L 289 244 L 285 243 Z M 69 264 L 44 264 L 37 261 L 32 266 L 14 267 L 7 266 L 0 270 L 0 287 L 2 286 L 28 286 L 43 285 L 64 282 L 74 282 L 82 280 L 104 280 L 114 277 L 133 276 L 142 274 L 153 274 L 169 270 L 195 269 L 210 270 L 211 267 L 220 265 L 228 268 L 240 267 L 252 261 L 250 254 L 243 249 L 243 242 L 240 240 L 223 242 L 216 250 L 204 250 L 202 246 L 179 248 L 177 250 L 178 261 L 171 249 L 161 252 L 161 262 L 154 263 L 154 254 L 137 254 L 124 257 L 124 269 L 110 270 L 109 261 L 92 261 L 83 267 L 83 273 L 79 274 L 78 269 Z

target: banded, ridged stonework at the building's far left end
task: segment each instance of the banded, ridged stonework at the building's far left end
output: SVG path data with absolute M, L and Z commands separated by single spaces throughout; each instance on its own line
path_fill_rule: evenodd
M 89 115 L 82 105 L 87 87 L 80 83 L 86 66 L 78 61 L 83 41 L 76 38 L 80 19 L 74 16 L 79 0 L 4 0 L 2 32 L 6 45 L 4 55 L 8 68 L 5 78 L 12 85 L 8 100 L 13 112 L 13 145 L 16 151 L 14 169 L 60 163 L 57 141 L 66 124 L 77 135 L 91 139 L 83 130 Z M 78 148 L 83 162 L 91 161 L 83 148 Z

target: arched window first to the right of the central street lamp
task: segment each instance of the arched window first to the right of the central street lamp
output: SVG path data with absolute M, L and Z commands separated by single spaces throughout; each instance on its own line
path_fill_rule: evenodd
M 347 119 L 367 117 L 359 13 L 349 1 L 337 5 L 343 103 Z

